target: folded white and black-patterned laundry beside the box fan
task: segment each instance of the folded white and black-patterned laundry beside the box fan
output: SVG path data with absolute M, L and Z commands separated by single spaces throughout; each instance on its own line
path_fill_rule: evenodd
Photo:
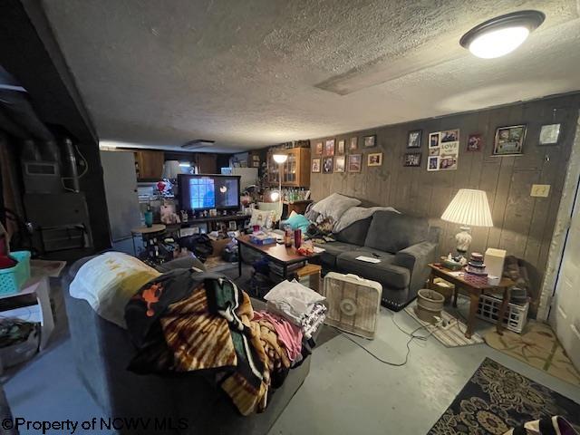
M 294 281 L 283 281 L 275 285 L 266 296 L 268 312 L 280 315 L 300 327 L 306 341 L 324 323 L 326 299 L 314 290 Z M 310 343 L 311 346 L 314 342 Z

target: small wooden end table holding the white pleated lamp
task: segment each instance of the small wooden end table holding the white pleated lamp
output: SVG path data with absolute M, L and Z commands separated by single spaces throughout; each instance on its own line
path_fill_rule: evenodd
M 503 319 L 504 314 L 506 313 L 507 303 L 509 302 L 509 290 L 516 283 L 514 283 L 509 278 L 502 277 L 498 285 L 478 284 L 471 281 L 466 281 L 463 275 L 459 275 L 465 273 L 463 270 L 454 272 L 446 267 L 441 266 L 438 263 L 431 263 L 429 266 L 431 269 L 429 277 L 430 288 L 434 288 L 433 279 L 435 277 L 440 277 L 441 279 L 444 279 L 445 281 L 455 285 L 453 306 L 457 306 L 457 295 L 459 288 L 462 288 L 469 294 L 468 329 L 465 332 L 465 336 L 467 338 L 471 338 L 471 334 L 473 333 L 473 326 L 476 321 L 476 314 L 478 313 L 479 296 L 482 295 L 484 291 L 503 292 L 503 299 L 498 313 L 498 323 L 496 324 L 498 334 L 503 334 Z

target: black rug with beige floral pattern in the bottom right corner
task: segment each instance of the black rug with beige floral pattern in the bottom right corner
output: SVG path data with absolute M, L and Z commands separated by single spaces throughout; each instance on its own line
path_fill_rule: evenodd
M 486 358 L 429 435 L 500 435 L 553 415 L 580 429 L 578 403 Z

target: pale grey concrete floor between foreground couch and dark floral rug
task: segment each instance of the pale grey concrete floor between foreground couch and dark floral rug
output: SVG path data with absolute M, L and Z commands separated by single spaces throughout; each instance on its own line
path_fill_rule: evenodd
M 466 308 L 460 304 L 461 311 Z M 393 315 L 406 331 L 419 326 L 405 312 L 393 314 L 382 308 L 377 337 L 357 342 L 383 360 L 402 362 L 409 337 L 392 323 Z M 484 333 L 488 328 L 478 322 L 476 330 Z M 449 349 L 433 337 L 413 341 L 409 362 L 391 367 L 339 334 L 316 348 L 306 382 L 270 434 L 425 434 L 486 357 L 580 402 L 580 388 L 487 344 Z

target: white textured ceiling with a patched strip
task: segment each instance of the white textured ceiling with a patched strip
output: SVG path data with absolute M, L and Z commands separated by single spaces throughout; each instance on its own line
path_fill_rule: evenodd
M 43 0 L 102 140 L 247 150 L 580 89 L 580 5 L 559 1 Z M 537 9 L 516 52 L 471 27 Z

